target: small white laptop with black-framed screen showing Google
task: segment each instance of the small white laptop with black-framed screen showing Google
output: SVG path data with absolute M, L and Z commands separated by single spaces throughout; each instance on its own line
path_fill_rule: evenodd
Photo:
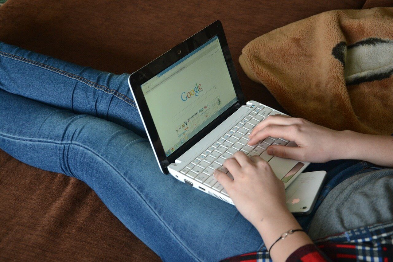
M 237 151 L 268 161 L 285 187 L 309 162 L 268 155 L 272 144 L 297 146 L 268 137 L 247 145 L 253 127 L 283 114 L 245 101 L 219 20 L 181 42 L 129 77 L 129 85 L 161 171 L 233 205 L 213 176 Z

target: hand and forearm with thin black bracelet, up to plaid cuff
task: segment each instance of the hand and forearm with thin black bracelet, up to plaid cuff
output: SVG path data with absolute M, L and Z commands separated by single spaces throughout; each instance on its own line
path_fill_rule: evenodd
M 261 234 L 266 247 L 271 247 L 283 232 L 301 228 L 286 208 L 284 183 L 261 157 L 248 158 L 243 152 L 236 152 L 224 162 L 224 167 L 233 175 L 233 180 L 220 170 L 215 170 L 214 176 L 237 210 Z M 290 241 L 279 241 L 273 247 L 270 256 L 274 261 L 285 261 L 299 247 L 312 243 L 303 232 L 289 238 Z

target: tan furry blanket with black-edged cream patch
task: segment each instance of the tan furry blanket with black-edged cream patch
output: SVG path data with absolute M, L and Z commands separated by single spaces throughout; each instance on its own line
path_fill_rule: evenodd
M 393 133 L 393 7 L 334 10 L 266 33 L 240 64 L 292 116 Z

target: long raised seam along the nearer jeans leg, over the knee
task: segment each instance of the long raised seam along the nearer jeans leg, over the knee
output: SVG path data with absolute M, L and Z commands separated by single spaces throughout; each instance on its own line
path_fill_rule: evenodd
M 51 140 L 42 140 L 42 139 L 31 139 L 31 138 L 22 138 L 22 137 L 15 137 L 15 136 L 11 136 L 11 135 L 6 135 L 6 134 L 2 134 L 0 133 L 0 136 L 5 137 L 5 138 L 9 138 L 9 139 L 14 139 L 14 140 L 20 140 L 20 141 L 26 141 L 26 142 L 41 142 L 41 143 L 48 143 L 48 144 L 57 144 L 57 145 L 71 145 L 71 146 L 77 146 L 80 148 L 83 148 L 85 150 L 87 150 L 88 152 L 92 153 L 93 155 L 95 155 L 96 157 L 98 157 L 99 159 L 101 159 L 103 162 L 105 162 L 105 164 L 107 164 L 108 166 L 110 166 L 110 168 L 112 168 L 116 173 L 118 173 L 120 175 L 120 177 L 131 187 L 134 189 L 134 191 L 138 194 L 138 196 L 145 202 L 145 204 L 150 208 L 150 210 L 156 215 L 157 218 L 159 218 L 159 220 L 161 221 L 161 223 L 163 225 L 165 225 L 165 227 L 167 228 L 167 230 L 173 235 L 173 237 L 177 240 L 177 242 L 184 247 L 184 249 L 191 255 L 193 256 L 196 260 L 198 261 L 202 261 L 200 260 L 193 252 L 191 252 L 191 250 L 189 250 L 182 241 L 180 241 L 180 239 L 176 236 L 176 234 L 174 234 L 174 232 L 169 228 L 169 226 L 162 220 L 162 218 L 158 215 L 158 213 L 151 207 L 151 205 L 146 201 L 146 199 L 142 196 L 142 194 L 139 192 L 139 190 L 137 190 L 137 188 L 135 188 L 124 176 L 121 172 L 119 172 L 114 166 L 112 166 L 107 160 L 105 160 L 101 155 L 99 155 L 97 152 L 95 152 L 93 149 L 88 148 L 86 146 L 84 146 L 83 144 L 79 144 L 79 143 L 75 143 L 75 142 L 56 142 L 56 141 L 51 141 Z M 142 139 L 142 138 L 140 138 Z

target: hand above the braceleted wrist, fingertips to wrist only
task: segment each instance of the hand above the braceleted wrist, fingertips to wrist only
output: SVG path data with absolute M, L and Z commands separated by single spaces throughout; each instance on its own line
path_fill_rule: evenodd
M 286 210 L 284 183 L 273 173 L 269 164 L 259 156 L 247 157 L 236 152 L 224 162 L 233 175 L 215 170 L 214 176 L 228 192 L 239 212 L 255 227 L 267 215 Z

